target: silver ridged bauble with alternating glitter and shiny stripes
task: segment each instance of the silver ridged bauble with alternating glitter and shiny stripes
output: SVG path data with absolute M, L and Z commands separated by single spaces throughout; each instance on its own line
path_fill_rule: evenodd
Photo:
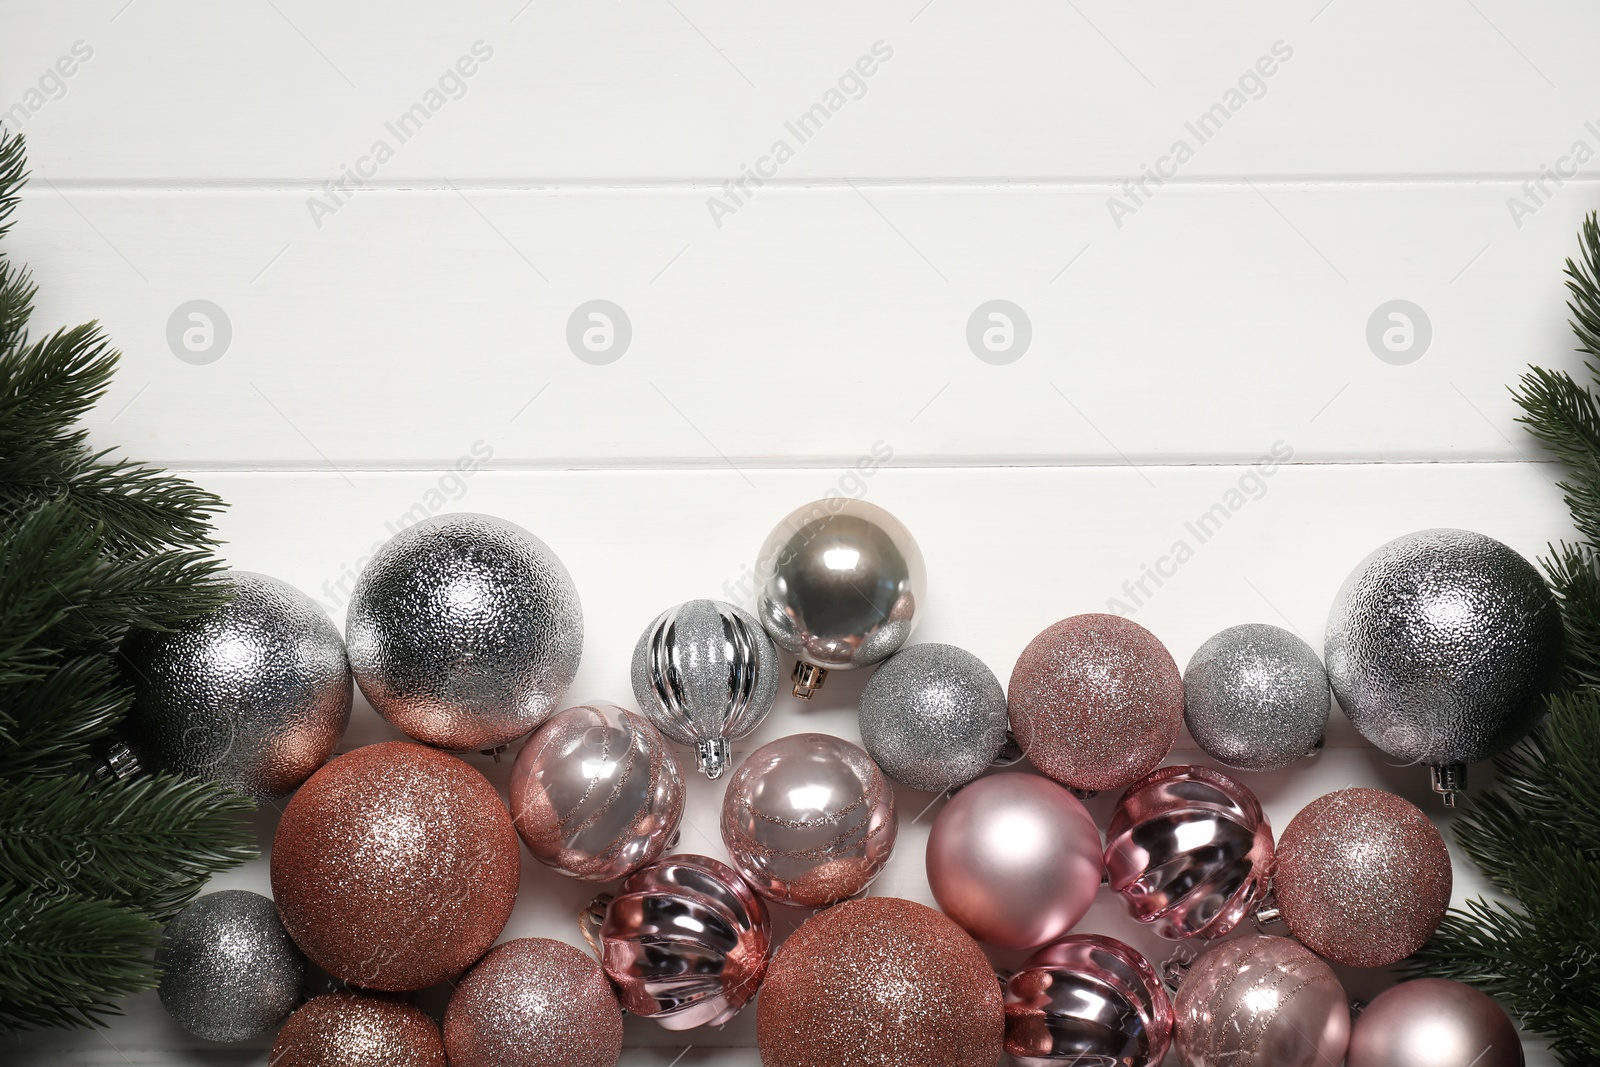
M 634 646 L 634 696 L 672 741 L 693 745 L 718 777 L 728 745 L 766 718 L 778 694 L 778 649 L 762 624 L 722 600 L 690 600 L 645 627 Z

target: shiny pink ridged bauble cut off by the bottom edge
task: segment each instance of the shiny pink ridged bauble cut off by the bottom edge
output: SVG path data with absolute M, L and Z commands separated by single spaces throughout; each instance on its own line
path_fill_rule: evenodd
M 1155 969 L 1115 937 L 1053 941 L 1005 984 L 1005 1051 L 1022 1067 L 1157 1067 L 1171 1035 Z

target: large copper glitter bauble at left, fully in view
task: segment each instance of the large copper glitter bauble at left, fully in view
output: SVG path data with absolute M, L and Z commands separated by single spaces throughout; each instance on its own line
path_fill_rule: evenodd
M 294 793 L 272 840 L 272 896 L 294 944 L 334 977 L 422 989 L 494 944 L 520 859 L 486 777 L 389 741 L 341 755 Z

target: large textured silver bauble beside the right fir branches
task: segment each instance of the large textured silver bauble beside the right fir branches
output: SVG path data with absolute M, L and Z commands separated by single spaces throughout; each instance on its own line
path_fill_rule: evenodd
M 1544 715 L 1562 669 L 1562 613 L 1525 558 L 1466 530 L 1378 549 L 1328 613 L 1328 680 L 1355 728 L 1459 787 Z

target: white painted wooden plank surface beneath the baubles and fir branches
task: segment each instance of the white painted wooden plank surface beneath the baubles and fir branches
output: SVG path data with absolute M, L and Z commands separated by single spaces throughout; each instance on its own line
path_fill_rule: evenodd
M 1597 200 L 1600 163 L 1578 163 L 1600 150 L 1592 5 L 440 6 L 0 5 L 0 122 L 29 136 L 34 170 L 8 253 L 38 275 L 40 326 L 99 318 L 125 352 L 96 442 L 219 491 L 227 558 L 341 621 L 387 526 L 504 515 L 582 593 L 573 699 L 627 699 L 638 630 L 690 597 L 747 600 L 766 530 L 835 490 L 922 542 L 917 640 L 1005 680 L 1040 629 L 1126 598 L 1280 442 L 1293 462 L 1250 482 L 1138 609 L 1179 664 L 1245 621 L 1320 645 L 1339 581 L 1392 536 L 1467 526 L 1534 555 L 1568 534 L 1506 386 L 1528 362 L 1576 366 L 1560 266 Z M 50 77 L 78 42 L 93 54 Z M 386 123 L 475 42 L 493 54 L 398 144 Z M 877 42 L 893 54 L 800 144 L 786 122 Z M 1278 42 L 1293 54 L 1200 144 L 1186 123 Z M 314 218 L 323 182 L 379 138 L 392 158 Z M 776 139 L 792 158 L 718 226 L 707 200 Z M 1109 200 L 1176 139 L 1192 158 L 1118 226 Z M 1546 166 L 1578 176 L 1534 200 L 1523 182 Z M 206 365 L 168 344 L 194 299 L 232 331 Z M 632 323 L 610 365 L 566 344 L 590 299 Z M 1010 365 L 968 349 L 989 299 L 1032 325 Z M 1430 320 L 1408 365 L 1366 341 L 1392 299 Z M 875 446 L 888 466 L 851 475 Z M 446 474 L 474 448 L 483 470 Z M 856 737 L 861 683 L 835 677 L 805 709 L 782 697 L 746 750 Z M 387 736 L 358 699 L 346 744 Z M 1442 814 L 1424 771 L 1338 715 L 1330 745 L 1246 776 L 1277 829 L 1350 784 Z M 507 765 L 469 758 L 504 785 Z M 718 797 L 693 781 L 685 848 L 722 854 Z M 874 893 L 930 901 L 931 800 L 899 792 L 901 846 Z M 1102 824 L 1112 801 L 1093 805 Z M 1482 881 L 1456 861 L 1459 904 Z M 523 867 L 506 936 L 578 942 L 590 891 Z M 266 891 L 266 859 L 218 886 Z M 1109 897 L 1082 929 L 1166 955 Z M 1389 981 L 1342 977 L 1366 997 Z M 686 1037 L 630 1021 L 624 1064 L 755 1064 L 752 1016 Z M 8 1059 L 264 1049 L 189 1038 L 142 997 L 106 1033 L 29 1037 Z

